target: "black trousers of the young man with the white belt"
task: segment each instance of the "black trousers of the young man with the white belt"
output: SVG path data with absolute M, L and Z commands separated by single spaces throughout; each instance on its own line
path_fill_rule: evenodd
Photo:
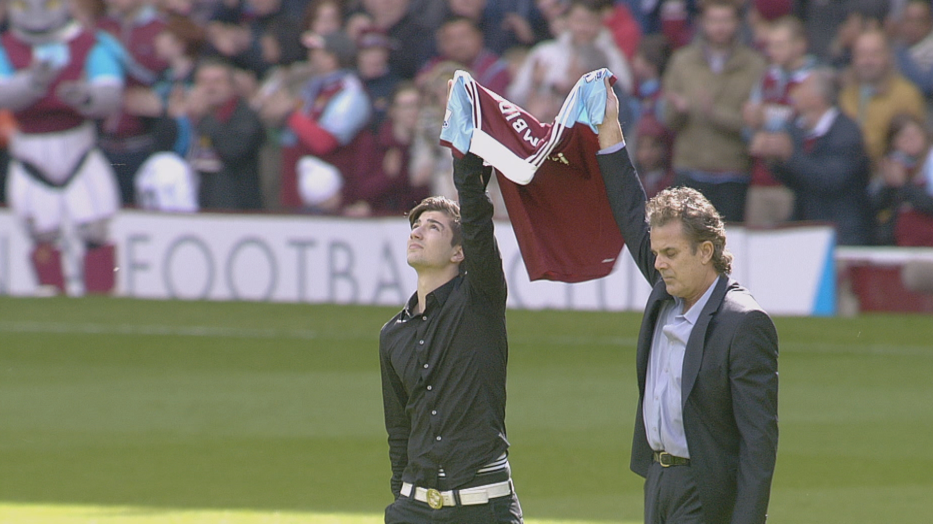
M 385 508 L 385 524 L 522 524 L 522 506 L 515 493 L 484 504 L 440 509 L 410 497 L 398 497 Z

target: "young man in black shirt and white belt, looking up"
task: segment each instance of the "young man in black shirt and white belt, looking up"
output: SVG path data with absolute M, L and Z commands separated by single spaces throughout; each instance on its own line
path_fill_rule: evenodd
M 379 352 L 394 503 L 386 524 L 521 524 L 506 439 L 506 279 L 493 234 L 492 175 L 454 159 L 460 206 L 411 210 L 418 290 L 383 326 Z

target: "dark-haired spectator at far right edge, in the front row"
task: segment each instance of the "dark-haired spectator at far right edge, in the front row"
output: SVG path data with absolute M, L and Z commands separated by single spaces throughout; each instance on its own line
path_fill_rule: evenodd
M 933 246 L 933 148 L 922 120 L 898 115 L 872 187 L 875 243 Z

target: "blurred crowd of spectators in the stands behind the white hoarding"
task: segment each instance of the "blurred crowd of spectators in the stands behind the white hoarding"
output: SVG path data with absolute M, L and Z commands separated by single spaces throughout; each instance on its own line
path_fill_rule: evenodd
M 842 244 L 933 245 L 929 0 L 73 8 L 140 68 L 98 126 L 124 206 L 400 214 L 455 197 L 438 142 L 454 71 L 547 122 L 581 75 L 608 67 L 649 196 L 693 186 L 733 223 L 823 221 Z M 0 135 L 15 129 L 0 113 Z

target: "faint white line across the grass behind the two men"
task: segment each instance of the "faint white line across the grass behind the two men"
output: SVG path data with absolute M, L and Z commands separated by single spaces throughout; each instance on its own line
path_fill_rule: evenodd
M 225 327 L 212 325 L 89 324 L 63 322 L 0 322 L 0 333 L 63 335 L 145 335 L 200 338 L 291 338 L 299 340 L 376 340 L 378 333 L 320 333 L 311 329 Z M 509 337 L 512 344 L 547 346 L 634 346 L 636 338 L 564 336 L 550 338 Z M 933 357 L 933 346 L 842 344 L 829 342 L 781 342 L 780 352 L 895 355 Z

